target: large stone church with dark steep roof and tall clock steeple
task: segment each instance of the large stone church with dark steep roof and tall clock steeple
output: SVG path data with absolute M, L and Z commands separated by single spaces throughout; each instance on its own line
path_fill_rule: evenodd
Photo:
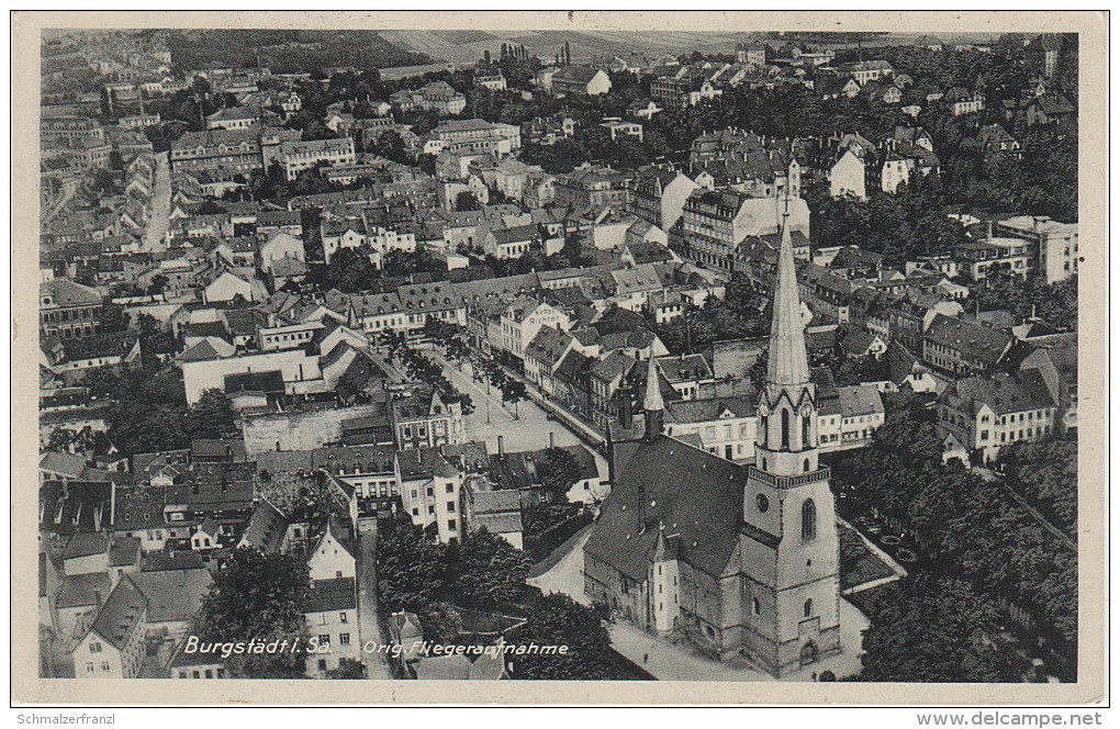
M 787 218 L 755 462 L 663 434 L 659 384 L 651 361 L 641 424 L 608 433 L 614 487 L 584 548 L 588 597 L 775 676 L 839 653 L 839 539 Z

